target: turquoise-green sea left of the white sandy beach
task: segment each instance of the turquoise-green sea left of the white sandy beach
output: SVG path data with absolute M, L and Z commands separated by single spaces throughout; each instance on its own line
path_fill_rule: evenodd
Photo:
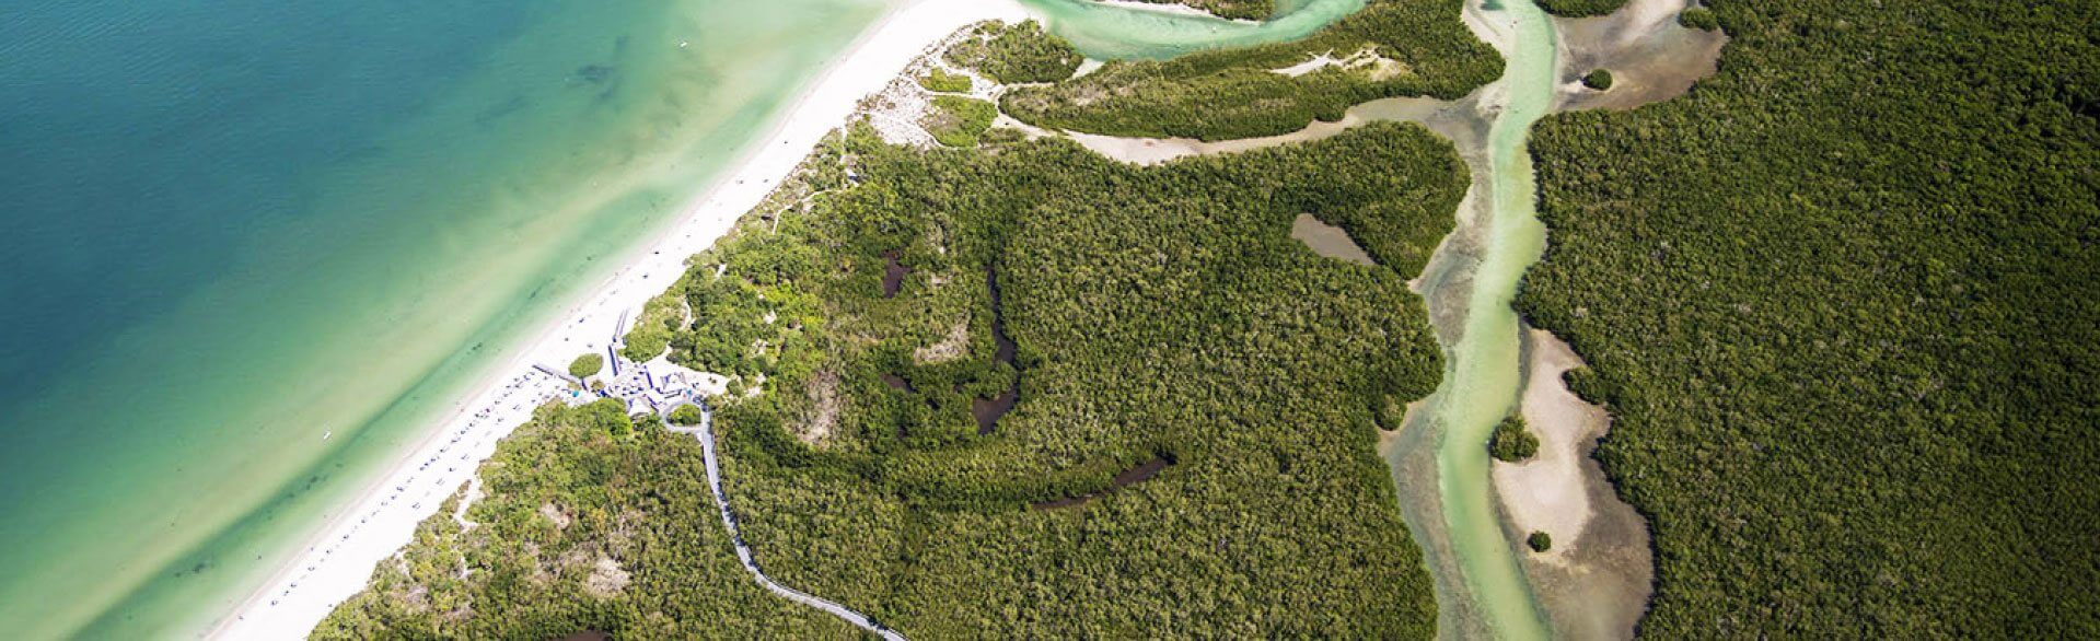
M 8 8 L 0 626 L 227 612 L 880 11 Z

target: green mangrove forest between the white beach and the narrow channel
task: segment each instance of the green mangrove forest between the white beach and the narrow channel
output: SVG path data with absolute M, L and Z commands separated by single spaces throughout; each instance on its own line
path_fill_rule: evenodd
M 1373 441 L 1382 410 L 1436 382 L 1407 277 L 1466 183 L 1449 143 L 1392 124 L 1161 168 L 1065 141 L 922 151 L 861 130 L 783 187 L 813 193 L 806 210 L 748 216 L 651 303 L 630 345 L 647 334 L 672 361 L 764 380 L 722 399 L 716 425 L 746 540 L 777 580 L 907 635 L 1426 637 L 1430 578 Z M 1315 254 L 1289 237 L 1300 212 L 1359 233 L 1386 267 Z M 687 307 L 691 328 L 670 313 Z M 981 433 L 972 410 L 1010 393 L 1018 404 Z M 714 599 L 735 612 L 708 635 L 781 616 L 716 563 L 720 523 L 687 506 L 706 494 L 693 448 L 643 431 L 645 456 L 592 477 L 678 483 L 567 483 L 563 471 L 636 450 L 573 422 L 542 416 L 491 464 L 533 456 L 554 479 L 489 483 L 504 500 L 468 511 L 521 523 L 458 534 L 449 513 L 433 519 L 410 557 L 437 565 L 382 567 L 328 630 L 659 633 L 693 612 L 668 607 Z M 1144 462 L 1157 475 L 1115 479 Z M 1092 498 L 1040 506 L 1073 496 Z M 596 504 L 626 536 L 704 534 L 674 544 L 693 559 L 664 565 L 659 549 L 510 513 L 521 502 Z M 561 549 L 521 549 L 548 536 Z M 475 572 L 441 576 L 462 549 Z M 586 597 L 514 580 L 567 549 L 636 580 L 710 578 Z M 454 620 L 401 599 L 418 591 L 470 609 Z

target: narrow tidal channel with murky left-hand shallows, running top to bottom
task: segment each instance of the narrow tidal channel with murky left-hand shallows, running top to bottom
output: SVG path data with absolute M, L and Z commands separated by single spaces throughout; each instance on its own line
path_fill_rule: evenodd
M 1510 303 L 1525 269 L 1546 248 L 1525 143 L 1531 124 L 1552 109 L 1558 80 L 1556 34 L 1531 0 L 1478 0 L 1468 11 L 1483 40 L 1502 50 L 1506 67 L 1502 80 L 1480 92 L 1493 118 L 1487 158 L 1474 162 L 1474 172 L 1485 170 L 1485 177 L 1474 183 L 1472 208 L 1460 212 L 1460 229 L 1453 231 L 1470 242 L 1447 242 L 1438 252 L 1460 256 L 1438 256 L 1432 269 L 1443 273 L 1424 277 L 1422 294 L 1432 315 L 1457 319 L 1438 324 L 1445 378 L 1405 429 L 1420 431 L 1411 439 L 1415 448 L 1434 448 L 1434 504 L 1445 532 L 1426 536 L 1428 546 L 1441 546 L 1430 551 L 1430 567 L 1460 574 L 1438 576 L 1438 599 L 1466 599 L 1468 603 L 1445 612 L 1466 612 L 1480 624 L 1447 618 L 1445 635 L 1485 628 L 1495 639 L 1546 639 L 1550 630 L 1525 578 L 1520 551 L 1504 534 L 1495 509 L 1487 441 L 1495 425 L 1516 410 L 1522 387 L 1520 326 Z M 1405 450 L 1409 448 L 1386 452 L 1403 483 L 1409 479 L 1405 458 L 1420 454 Z M 1420 475 L 1413 479 L 1422 481 Z M 1413 515 L 1411 523 L 1428 517 L 1432 515 Z M 1464 595 L 1445 586 L 1462 586 Z

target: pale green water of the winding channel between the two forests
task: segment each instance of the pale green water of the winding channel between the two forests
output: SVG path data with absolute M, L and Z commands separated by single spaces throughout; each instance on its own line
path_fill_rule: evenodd
M 1487 244 L 1466 292 L 1466 322 L 1457 345 L 1447 345 L 1449 366 L 1432 406 L 1436 485 L 1443 496 L 1451 551 L 1476 612 L 1499 639 L 1550 637 L 1518 565 L 1518 551 L 1502 532 L 1491 492 L 1487 441 L 1495 425 L 1516 410 L 1522 364 L 1518 317 L 1510 303 L 1516 286 L 1546 248 L 1537 221 L 1537 185 L 1531 124 L 1548 113 L 1556 82 L 1552 21 L 1531 0 L 1499 0 L 1489 21 L 1514 25 L 1514 46 L 1504 53 L 1506 107 L 1489 128 L 1491 164 Z

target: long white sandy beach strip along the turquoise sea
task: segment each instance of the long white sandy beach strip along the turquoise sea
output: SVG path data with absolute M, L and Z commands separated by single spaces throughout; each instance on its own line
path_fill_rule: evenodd
M 540 395 L 563 389 L 559 378 L 533 366 L 563 368 L 580 353 L 605 349 L 617 324 L 685 273 L 689 256 L 758 206 L 865 97 L 880 92 L 928 46 L 970 23 L 1025 17 L 1029 13 L 1014 0 L 907 0 L 888 8 L 773 120 L 764 137 L 697 191 L 674 223 L 653 242 L 630 248 L 620 269 L 578 296 L 580 303 L 533 340 L 512 349 L 504 366 L 472 387 L 468 404 L 433 418 L 435 429 L 304 538 L 294 559 L 233 612 L 212 620 L 208 637 L 281 639 L 292 628 L 313 630 L 336 603 L 363 591 L 372 567 L 414 538 L 418 523 L 494 454 L 496 441 L 531 416 L 544 401 Z

